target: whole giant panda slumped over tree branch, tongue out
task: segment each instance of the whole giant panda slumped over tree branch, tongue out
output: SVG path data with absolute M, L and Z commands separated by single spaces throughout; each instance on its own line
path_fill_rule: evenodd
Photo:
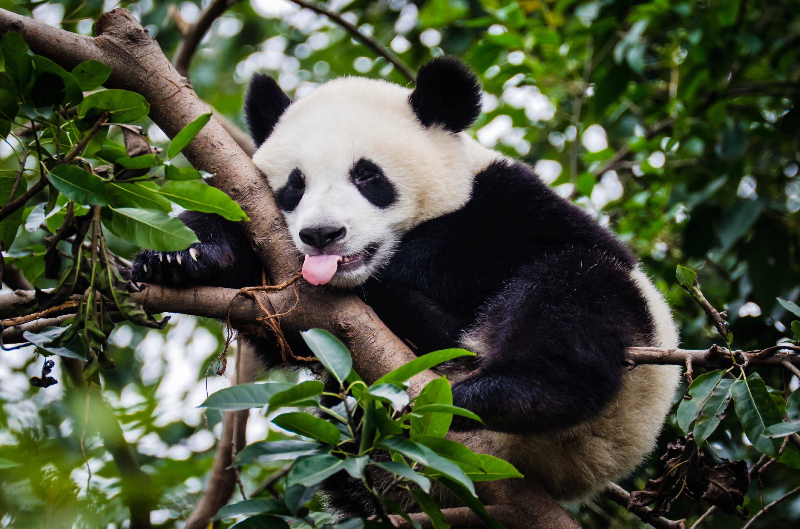
M 623 354 L 678 347 L 678 332 L 614 234 L 528 165 L 465 132 L 480 110 L 477 78 L 447 56 L 422 66 L 414 89 L 338 78 L 292 102 L 256 74 L 245 101 L 253 161 L 306 280 L 357 292 L 417 354 L 477 353 L 440 372 L 454 404 L 485 427 L 454 417 L 452 428 L 478 430 L 526 479 L 579 502 L 654 448 L 679 368 L 629 371 Z M 181 218 L 201 242 L 180 260 L 139 254 L 134 280 L 262 283 L 238 225 L 206 213 Z M 269 340 L 250 340 L 268 364 L 280 362 Z M 328 501 L 342 515 L 370 514 L 368 502 L 335 491 Z

